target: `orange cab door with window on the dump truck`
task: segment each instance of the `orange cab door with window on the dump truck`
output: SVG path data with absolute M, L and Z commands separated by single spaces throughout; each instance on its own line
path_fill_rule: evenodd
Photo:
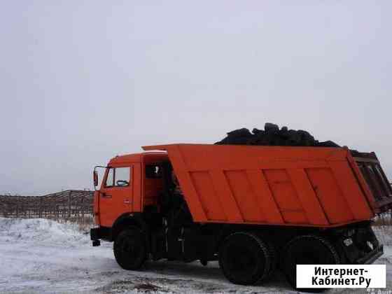
M 108 167 L 99 190 L 99 221 L 103 227 L 111 227 L 122 214 L 129 213 L 133 198 L 133 167 Z

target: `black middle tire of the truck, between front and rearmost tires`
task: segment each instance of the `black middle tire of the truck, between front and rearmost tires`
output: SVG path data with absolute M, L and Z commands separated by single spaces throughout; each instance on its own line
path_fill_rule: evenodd
M 269 248 L 251 232 L 232 233 L 219 248 L 219 266 L 232 283 L 253 285 L 263 281 L 271 269 Z

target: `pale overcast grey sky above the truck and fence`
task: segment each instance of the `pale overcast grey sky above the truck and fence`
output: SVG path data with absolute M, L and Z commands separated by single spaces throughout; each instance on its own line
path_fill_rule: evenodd
M 392 180 L 392 1 L 1 1 L 0 193 L 92 188 L 140 146 L 265 122 Z

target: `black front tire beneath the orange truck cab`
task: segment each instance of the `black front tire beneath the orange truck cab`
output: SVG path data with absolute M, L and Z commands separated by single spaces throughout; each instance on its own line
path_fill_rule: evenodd
M 114 257 L 123 269 L 139 269 L 147 257 L 144 234 L 138 228 L 121 231 L 113 244 Z

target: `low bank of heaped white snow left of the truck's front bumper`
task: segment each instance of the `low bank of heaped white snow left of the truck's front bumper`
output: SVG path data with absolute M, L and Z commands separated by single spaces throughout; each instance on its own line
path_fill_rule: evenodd
M 34 244 L 89 244 L 89 236 L 70 223 L 57 223 L 44 218 L 0 218 L 0 240 L 12 242 L 33 241 Z

